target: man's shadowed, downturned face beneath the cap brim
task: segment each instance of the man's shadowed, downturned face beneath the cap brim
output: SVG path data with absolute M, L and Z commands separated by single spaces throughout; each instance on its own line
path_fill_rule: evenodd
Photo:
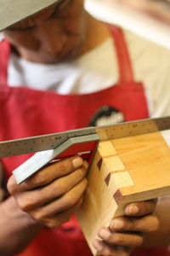
M 55 63 L 78 55 L 85 38 L 83 0 L 59 0 L 3 33 L 14 50 L 30 61 Z

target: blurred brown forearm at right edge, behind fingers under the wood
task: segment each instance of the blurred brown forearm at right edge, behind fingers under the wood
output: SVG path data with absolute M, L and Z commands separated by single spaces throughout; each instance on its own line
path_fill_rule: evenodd
M 160 227 L 144 236 L 144 247 L 162 247 L 170 244 L 170 197 L 158 201 L 155 211 Z

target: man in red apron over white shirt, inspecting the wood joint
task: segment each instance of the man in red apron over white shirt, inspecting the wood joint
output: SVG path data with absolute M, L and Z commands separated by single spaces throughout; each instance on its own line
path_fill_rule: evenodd
M 105 119 L 107 123 L 115 123 L 149 115 L 151 108 L 148 110 L 144 87 L 133 78 L 127 51 L 130 42 L 126 44 L 122 31 L 94 20 L 83 9 L 83 0 L 55 2 L 3 31 L 7 40 L 0 48 L 1 140 L 99 125 Z M 135 38 L 132 47 L 139 44 L 140 51 L 143 48 L 139 59 L 145 57 L 145 50 L 147 56 L 147 45 L 153 50 L 150 53 L 153 57 L 160 50 L 159 57 L 164 64 L 165 56 L 169 55 L 167 50 L 127 32 L 127 41 L 132 37 Z M 160 82 L 154 70 L 156 63 L 147 67 L 146 62 L 141 66 L 139 61 L 136 67 L 139 82 L 141 71 L 146 77 L 149 75 L 150 84 L 148 78 L 146 84 L 150 91 L 156 88 L 155 101 L 157 94 L 162 95 L 156 84 Z M 167 90 L 164 81 L 169 79 L 167 70 L 168 63 L 160 78 L 164 90 Z M 169 113 L 167 102 L 161 110 L 158 103 L 154 102 L 152 115 L 159 111 L 160 115 Z M 26 156 L 3 160 L 6 179 L 24 160 Z M 4 256 L 20 252 L 22 256 L 91 255 L 76 219 L 71 218 L 87 188 L 87 169 L 88 163 L 75 156 L 47 166 L 19 186 L 10 177 L 11 196 L 0 205 L 0 253 Z M 143 244 L 143 232 L 158 229 L 158 218 L 150 214 L 155 206 L 156 201 L 128 205 L 125 217 L 112 220 L 109 228 L 96 230 L 97 252 L 123 256 Z M 159 215 L 159 207 L 157 212 Z M 70 218 L 71 222 L 67 222 Z M 167 235 L 168 231 L 162 232 Z M 145 237 L 145 245 L 150 246 L 151 238 L 147 241 L 148 236 Z M 166 255 L 167 251 L 161 253 Z

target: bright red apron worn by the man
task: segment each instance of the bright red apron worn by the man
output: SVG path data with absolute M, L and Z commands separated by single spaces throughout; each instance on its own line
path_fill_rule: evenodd
M 148 117 L 144 88 L 133 80 L 133 70 L 123 33 L 111 27 L 116 45 L 119 83 L 105 90 L 86 95 L 59 95 L 53 91 L 39 91 L 24 87 L 9 87 L 8 58 L 10 45 L 0 44 L 0 141 L 31 137 L 85 127 L 95 113 L 105 106 L 123 113 L 126 121 Z M 27 155 L 3 159 L 7 177 Z M 150 251 L 138 255 L 167 255 Z M 44 229 L 20 256 L 91 256 L 75 218 L 57 229 Z M 136 254 L 137 255 L 137 254 Z M 170 255 L 170 254 L 169 254 Z

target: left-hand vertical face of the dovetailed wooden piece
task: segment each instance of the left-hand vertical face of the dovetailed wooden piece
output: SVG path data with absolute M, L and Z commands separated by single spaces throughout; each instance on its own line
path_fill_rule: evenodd
M 77 212 L 77 218 L 82 226 L 82 231 L 88 241 L 88 245 L 95 254 L 93 241 L 96 237 L 96 230 L 101 225 L 108 225 L 113 217 L 113 212 L 108 209 L 116 209 L 116 201 L 113 198 L 114 188 L 108 189 L 105 177 L 109 172 L 106 168 L 99 171 L 97 162 L 100 154 L 97 153 L 97 160 L 94 159 L 91 171 L 88 173 L 88 189 L 84 195 L 84 203 Z M 105 207 L 106 206 L 106 207 Z

